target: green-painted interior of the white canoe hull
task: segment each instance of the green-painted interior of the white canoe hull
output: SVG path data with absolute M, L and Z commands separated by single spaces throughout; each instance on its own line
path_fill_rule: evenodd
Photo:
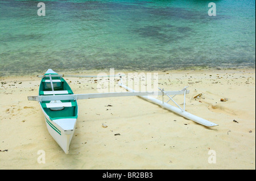
M 52 91 L 51 82 L 46 82 L 44 80 L 49 79 L 49 77 L 44 77 L 39 86 L 39 95 L 43 95 L 43 91 Z M 52 80 L 59 79 L 61 82 L 53 82 L 54 91 L 68 90 L 69 94 L 73 94 L 73 91 L 69 87 L 68 83 L 62 77 L 52 77 Z M 60 95 L 60 94 L 58 94 Z M 50 101 L 43 101 L 41 103 L 49 103 Z M 61 102 L 76 102 L 76 100 L 61 100 Z M 77 103 L 76 106 L 64 107 L 63 110 L 53 111 L 50 108 L 43 108 L 47 115 L 54 119 L 62 118 L 77 118 Z

